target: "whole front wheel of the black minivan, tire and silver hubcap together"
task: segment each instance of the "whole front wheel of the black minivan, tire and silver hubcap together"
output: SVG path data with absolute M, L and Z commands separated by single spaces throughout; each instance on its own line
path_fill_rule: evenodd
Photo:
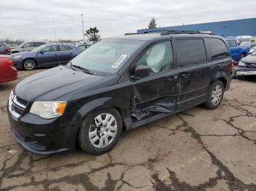
M 93 155 L 108 152 L 116 145 L 121 131 L 122 120 L 116 109 L 99 109 L 83 121 L 78 136 L 80 149 Z

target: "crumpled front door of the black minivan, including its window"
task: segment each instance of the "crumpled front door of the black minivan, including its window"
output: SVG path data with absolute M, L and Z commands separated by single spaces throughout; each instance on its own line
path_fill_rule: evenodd
M 151 74 L 132 85 L 132 116 L 137 120 L 156 114 L 176 111 L 178 77 L 173 69 L 173 50 L 170 41 L 158 42 L 148 47 L 135 62 L 146 65 Z

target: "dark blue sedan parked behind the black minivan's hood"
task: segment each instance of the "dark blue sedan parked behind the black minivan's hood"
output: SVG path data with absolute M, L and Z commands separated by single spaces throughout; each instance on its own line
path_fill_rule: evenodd
M 43 44 L 31 52 L 12 54 L 11 58 L 16 69 L 33 70 L 36 67 L 66 64 L 82 51 L 67 44 Z

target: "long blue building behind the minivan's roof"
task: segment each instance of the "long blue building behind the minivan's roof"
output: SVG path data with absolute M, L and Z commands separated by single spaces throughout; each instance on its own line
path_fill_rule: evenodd
M 209 31 L 212 34 L 219 36 L 256 36 L 256 17 L 241 19 L 241 20 L 227 20 L 213 23 L 200 23 L 183 26 L 167 26 L 151 29 L 140 29 L 138 34 L 144 32 L 157 32 L 157 31 Z

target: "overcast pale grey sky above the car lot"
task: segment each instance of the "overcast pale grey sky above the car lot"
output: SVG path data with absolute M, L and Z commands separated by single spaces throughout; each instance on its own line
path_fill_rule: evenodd
M 152 17 L 158 27 L 256 17 L 255 0 L 0 0 L 0 7 L 0 39 L 12 40 L 83 39 L 81 13 L 84 31 L 97 26 L 102 38 L 146 28 Z

